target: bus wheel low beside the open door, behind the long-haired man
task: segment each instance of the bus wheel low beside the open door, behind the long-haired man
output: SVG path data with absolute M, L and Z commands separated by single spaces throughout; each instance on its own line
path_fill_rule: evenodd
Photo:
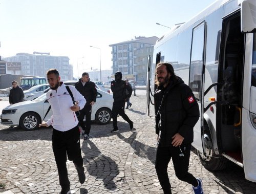
M 199 160 L 207 170 L 210 170 L 210 171 L 222 170 L 225 168 L 227 160 L 223 156 L 221 155 L 217 156 L 215 154 L 209 128 L 208 126 L 204 126 L 204 128 L 205 128 L 204 146 L 205 146 L 206 156 L 197 150 Z

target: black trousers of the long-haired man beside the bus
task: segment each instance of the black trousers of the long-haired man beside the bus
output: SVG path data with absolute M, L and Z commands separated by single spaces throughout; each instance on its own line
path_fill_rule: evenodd
M 177 147 L 157 147 L 156 171 L 158 180 L 162 186 L 164 193 L 172 193 L 170 190 L 170 182 L 167 173 L 167 167 L 172 158 L 174 164 L 175 175 L 181 181 L 185 181 L 193 186 L 198 186 L 197 179 L 188 173 L 188 164 L 190 157 L 191 144 L 184 144 Z M 182 156 L 184 155 L 184 156 Z

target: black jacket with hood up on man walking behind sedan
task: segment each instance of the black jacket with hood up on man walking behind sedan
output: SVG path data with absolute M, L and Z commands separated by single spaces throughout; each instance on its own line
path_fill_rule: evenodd
M 133 89 L 130 85 L 121 79 L 122 73 L 116 72 L 115 80 L 111 81 L 111 90 L 113 92 L 114 102 L 124 102 L 127 98 L 130 98 L 133 93 Z M 127 93 L 126 90 L 128 91 Z

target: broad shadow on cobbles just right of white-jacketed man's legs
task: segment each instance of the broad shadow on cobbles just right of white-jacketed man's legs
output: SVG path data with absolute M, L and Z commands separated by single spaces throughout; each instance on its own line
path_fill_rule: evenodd
M 113 180 L 118 174 L 118 167 L 114 160 L 101 154 L 97 146 L 90 140 L 84 140 L 81 147 L 84 153 L 84 166 L 91 176 L 97 177 L 96 180 L 103 181 L 105 188 L 112 189 L 116 187 L 116 181 Z

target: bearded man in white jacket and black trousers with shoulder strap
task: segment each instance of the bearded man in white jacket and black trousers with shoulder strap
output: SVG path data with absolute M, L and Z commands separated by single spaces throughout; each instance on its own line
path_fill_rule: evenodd
M 81 157 L 80 133 L 78 120 L 75 112 L 80 110 L 86 104 L 86 99 L 73 86 L 68 86 L 74 96 L 76 104 L 66 88 L 66 85 L 60 81 L 59 73 L 56 69 L 50 69 L 47 72 L 47 80 L 50 84 L 50 90 L 47 92 L 47 100 L 52 107 L 52 117 L 47 122 L 42 122 L 40 126 L 53 127 L 52 148 L 55 161 L 58 168 L 59 184 L 61 194 L 69 194 L 70 181 L 66 166 L 68 159 L 73 161 L 79 182 L 82 184 L 86 180 L 84 175 L 83 160 Z

